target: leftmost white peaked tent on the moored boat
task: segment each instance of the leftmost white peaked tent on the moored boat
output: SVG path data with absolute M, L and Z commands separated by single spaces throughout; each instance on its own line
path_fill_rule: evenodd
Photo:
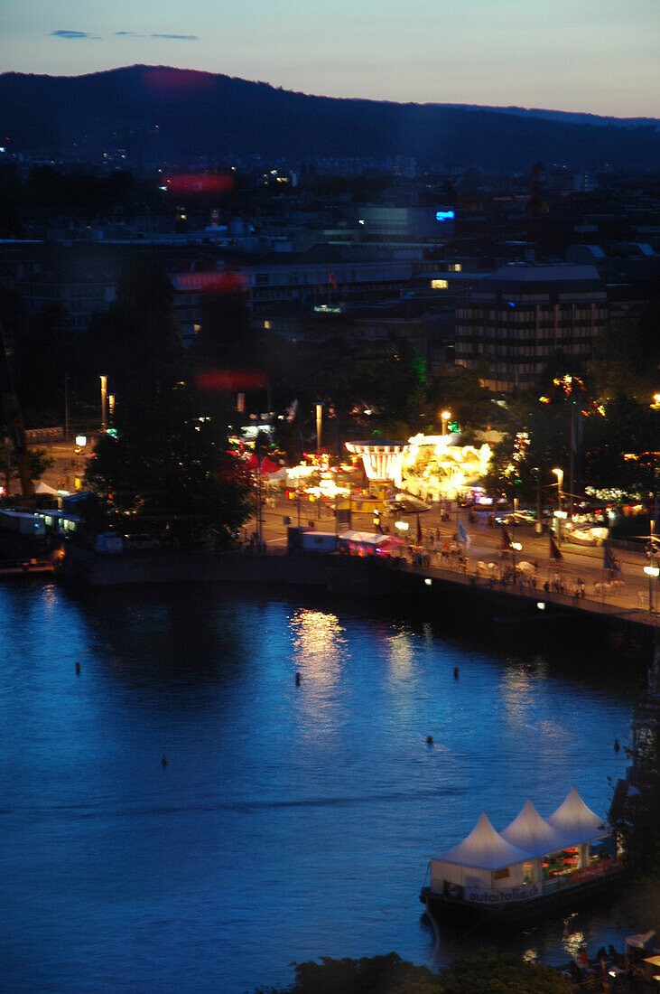
M 531 853 L 503 839 L 492 827 L 485 812 L 469 835 L 454 849 L 431 860 L 431 887 L 442 890 L 443 881 L 462 887 L 510 888 L 523 882 L 523 864 L 534 859 Z M 505 875 L 494 871 L 508 870 Z

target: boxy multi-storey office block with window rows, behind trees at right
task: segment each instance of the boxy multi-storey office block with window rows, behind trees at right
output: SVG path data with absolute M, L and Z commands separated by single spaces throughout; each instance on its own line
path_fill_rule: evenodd
M 506 265 L 456 310 L 456 362 L 493 391 L 530 386 L 561 352 L 589 364 L 607 313 L 593 265 Z

